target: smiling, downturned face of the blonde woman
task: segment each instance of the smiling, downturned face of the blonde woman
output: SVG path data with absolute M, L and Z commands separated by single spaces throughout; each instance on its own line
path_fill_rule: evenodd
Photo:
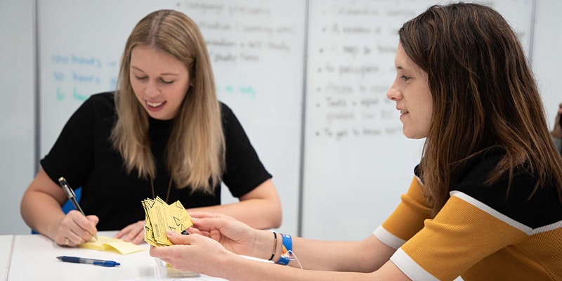
M 190 87 L 188 67 L 158 48 L 136 46 L 131 51 L 130 72 L 135 96 L 150 117 L 176 117 Z

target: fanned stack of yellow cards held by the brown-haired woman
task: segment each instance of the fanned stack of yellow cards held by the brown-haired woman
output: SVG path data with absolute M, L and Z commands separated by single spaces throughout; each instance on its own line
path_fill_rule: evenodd
M 166 204 L 160 197 L 156 197 L 153 200 L 147 198 L 142 203 L 146 215 L 145 241 L 152 246 L 171 245 L 166 230 L 181 233 L 193 225 L 191 216 L 179 201 Z

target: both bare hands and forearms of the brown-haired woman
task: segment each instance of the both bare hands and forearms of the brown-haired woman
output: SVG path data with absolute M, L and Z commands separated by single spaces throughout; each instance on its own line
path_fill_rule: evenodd
M 210 217 L 209 217 L 210 218 Z M 169 238 L 174 244 L 171 247 L 151 247 L 150 255 L 162 259 L 181 270 L 190 270 L 215 277 L 223 277 L 230 281 L 244 280 L 393 280 L 407 281 L 410 280 L 390 261 L 381 266 L 378 270 L 370 273 L 358 273 L 343 270 L 332 271 L 332 268 L 340 268 L 338 263 L 348 264 L 357 263 L 365 257 L 362 252 L 372 252 L 376 249 L 366 249 L 366 244 L 354 244 L 351 242 L 320 242 L 306 239 L 296 239 L 294 242 L 294 250 L 297 258 L 301 263 L 308 263 L 321 268 L 322 262 L 332 263 L 329 259 L 322 259 L 322 256 L 332 256 L 334 259 L 332 268 L 329 270 L 310 270 L 311 266 L 303 264 L 304 269 L 295 268 L 296 261 L 291 261 L 289 266 L 258 261 L 256 259 L 246 259 L 238 254 L 246 254 L 248 256 L 256 256 L 261 259 L 268 259 L 270 249 L 275 241 L 274 236 L 268 230 L 251 230 L 241 223 L 228 223 L 228 220 L 214 221 L 210 218 L 207 222 L 218 223 L 230 230 L 230 233 L 236 237 L 236 240 L 229 241 L 228 237 L 223 237 L 221 241 L 226 242 L 226 246 L 222 247 L 217 240 L 209 239 L 202 235 L 178 235 L 171 233 Z M 204 220 L 205 218 L 200 218 Z M 198 221 L 201 223 L 202 221 Z M 246 229 L 244 229 L 246 228 Z M 369 240 L 372 242 L 373 240 Z M 241 242 L 241 243 L 240 243 Z M 280 256 L 280 240 L 277 240 L 277 251 L 274 261 Z M 242 246 L 247 244 L 249 248 Z M 305 245 L 306 244 L 306 245 Z M 351 249 L 349 248 L 351 246 Z M 356 247 L 357 246 L 357 247 Z M 359 246 L 363 247 L 360 248 Z M 375 245 L 376 246 L 376 245 Z M 233 251 L 233 247 L 236 248 Z M 319 249 L 319 247 L 323 247 Z M 344 253 L 332 251 L 334 248 L 342 249 Z M 356 251 L 353 253 L 353 251 Z M 300 254 L 299 254 L 300 253 Z M 341 254 L 341 255 L 339 255 Z M 359 256 L 353 258 L 353 254 Z M 197 256 L 197 259 L 191 257 Z M 384 256 L 384 254 L 382 254 Z M 349 261 L 352 259 L 352 261 Z M 362 264 L 376 263 L 373 259 L 363 259 Z M 351 266 L 350 268 L 354 268 Z M 369 271 L 369 270 L 364 270 Z

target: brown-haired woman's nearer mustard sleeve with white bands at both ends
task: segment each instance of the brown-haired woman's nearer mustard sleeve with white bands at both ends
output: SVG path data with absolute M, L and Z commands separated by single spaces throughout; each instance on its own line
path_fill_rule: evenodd
M 486 256 L 525 239 L 531 229 L 462 192 L 391 257 L 413 280 L 454 280 Z M 436 278 L 436 279 L 434 279 Z

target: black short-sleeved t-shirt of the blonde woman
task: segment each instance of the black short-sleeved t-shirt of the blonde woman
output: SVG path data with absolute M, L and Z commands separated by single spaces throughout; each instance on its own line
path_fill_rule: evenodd
M 223 183 L 235 197 L 247 194 L 271 178 L 230 108 L 221 103 L 226 139 L 226 171 Z M 152 198 L 150 180 L 128 174 L 119 152 L 112 148 L 110 133 L 116 112 L 113 93 L 91 96 L 70 117 L 51 151 L 41 160 L 48 176 L 58 183 L 64 176 L 72 188 L 82 187 L 80 206 L 86 215 L 100 218 L 98 230 L 120 230 L 145 219 L 142 200 Z M 157 161 L 155 195 L 165 200 L 170 176 L 162 163 L 171 121 L 150 118 L 150 143 Z M 181 201 L 185 208 L 221 204 L 221 185 L 214 195 L 178 189 L 171 183 L 168 203 Z

